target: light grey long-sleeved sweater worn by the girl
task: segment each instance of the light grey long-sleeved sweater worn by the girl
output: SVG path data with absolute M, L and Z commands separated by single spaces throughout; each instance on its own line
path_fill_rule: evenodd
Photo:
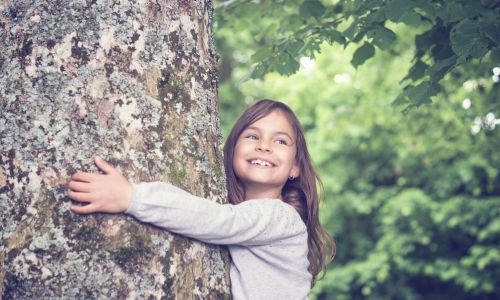
M 279 199 L 219 204 L 163 182 L 134 184 L 126 213 L 202 242 L 228 245 L 231 293 L 239 299 L 307 299 L 307 230 Z

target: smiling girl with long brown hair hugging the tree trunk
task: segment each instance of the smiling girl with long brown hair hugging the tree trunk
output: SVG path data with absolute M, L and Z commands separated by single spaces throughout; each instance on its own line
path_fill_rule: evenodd
M 206 243 L 228 245 L 234 299 L 306 299 L 335 245 L 319 223 L 319 178 L 302 128 L 283 103 L 246 109 L 224 146 L 230 204 L 168 183 L 131 184 L 96 158 L 105 174 L 76 173 L 70 198 L 80 214 L 125 212 Z

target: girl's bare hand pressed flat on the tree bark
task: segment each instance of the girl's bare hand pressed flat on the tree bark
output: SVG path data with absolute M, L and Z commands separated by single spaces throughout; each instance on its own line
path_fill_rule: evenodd
M 105 174 L 78 172 L 71 176 L 68 183 L 69 197 L 75 201 L 88 203 L 85 206 L 72 205 L 71 210 L 78 214 L 126 211 L 132 201 L 132 184 L 97 156 L 95 164 Z

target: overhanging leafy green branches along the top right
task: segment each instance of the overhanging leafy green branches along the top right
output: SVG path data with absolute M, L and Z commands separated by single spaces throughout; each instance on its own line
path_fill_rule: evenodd
M 413 65 L 394 101 L 405 111 L 430 103 L 452 70 L 488 56 L 500 61 L 498 0 L 233 0 L 222 2 L 218 14 L 225 26 L 246 24 L 245 30 L 252 32 L 255 55 L 243 79 L 273 71 L 294 74 L 300 58 L 314 58 L 324 42 L 361 45 L 351 60 L 357 68 L 376 49 L 397 55 L 394 45 L 403 37 L 395 33 L 396 26 L 415 28 Z

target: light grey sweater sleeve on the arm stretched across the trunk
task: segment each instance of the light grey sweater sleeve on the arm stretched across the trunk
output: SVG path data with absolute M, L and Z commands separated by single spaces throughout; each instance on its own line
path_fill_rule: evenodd
M 299 214 L 282 201 L 256 199 L 237 205 L 220 204 L 163 182 L 134 184 L 126 213 L 212 244 L 264 245 L 306 232 Z

